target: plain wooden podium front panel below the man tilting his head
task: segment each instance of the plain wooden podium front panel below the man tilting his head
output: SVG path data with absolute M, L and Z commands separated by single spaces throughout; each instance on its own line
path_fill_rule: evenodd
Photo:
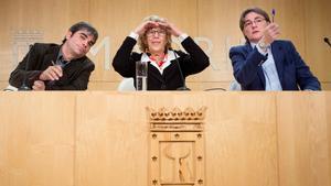
M 73 96 L 0 92 L 0 185 L 74 184 Z

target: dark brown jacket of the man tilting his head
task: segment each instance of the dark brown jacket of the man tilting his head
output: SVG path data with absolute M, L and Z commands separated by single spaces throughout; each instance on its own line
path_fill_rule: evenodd
M 11 73 L 9 84 L 19 88 L 24 76 L 26 76 L 26 84 L 32 87 L 34 80 L 39 79 L 40 74 L 53 65 L 52 61 L 56 62 L 60 48 L 61 45 L 57 44 L 35 43 L 30 50 L 30 55 L 26 54 Z M 29 63 L 26 63 L 28 61 Z M 63 76 L 53 84 L 45 81 L 45 88 L 46 90 L 86 90 L 89 75 L 94 68 L 93 62 L 86 56 L 73 59 L 63 67 Z

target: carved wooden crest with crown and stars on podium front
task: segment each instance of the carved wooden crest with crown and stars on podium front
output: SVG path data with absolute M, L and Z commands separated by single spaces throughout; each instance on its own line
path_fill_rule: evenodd
M 147 108 L 150 123 L 150 185 L 203 186 L 206 107 Z

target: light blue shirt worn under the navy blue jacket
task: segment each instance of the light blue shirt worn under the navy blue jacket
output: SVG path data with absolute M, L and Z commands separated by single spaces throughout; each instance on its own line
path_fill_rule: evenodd
M 278 73 L 277 73 L 277 68 L 275 65 L 275 59 L 271 53 L 271 47 L 267 48 L 267 53 L 263 52 L 261 48 L 259 48 L 255 43 L 250 43 L 252 47 L 257 47 L 257 51 L 263 54 L 263 55 L 267 55 L 268 54 L 268 58 L 267 61 L 265 61 L 261 64 L 261 69 L 264 72 L 265 75 L 265 79 L 266 79 L 266 87 L 265 89 L 267 91 L 273 91 L 273 90 L 282 90 L 281 88 L 281 84 L 278 77 Z

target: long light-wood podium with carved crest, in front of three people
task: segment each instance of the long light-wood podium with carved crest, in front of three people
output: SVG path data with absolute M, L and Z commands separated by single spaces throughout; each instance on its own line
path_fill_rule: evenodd
M 0 186 L 331 186 L 329 91 L 0 92 Z

